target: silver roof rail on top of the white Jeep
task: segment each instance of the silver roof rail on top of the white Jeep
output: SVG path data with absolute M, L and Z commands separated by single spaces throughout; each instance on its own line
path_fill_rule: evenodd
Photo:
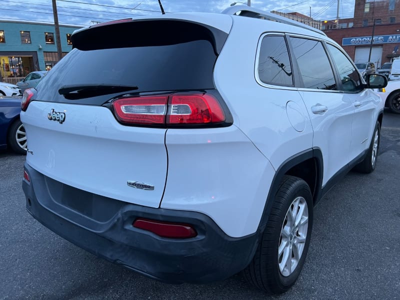
M 237 13 L 237 12 L 240 12 L 240 13 Z M 231 7 L 228 7 L 226 9 L 222 10 L 222 13 L 243 15 L 243 16 L 249 16 L 249 17 L 255 17 L 255 18 L 264 18 L 264 19 L 267 19 L 267 20 L 273 20 L 273 21 L 277 21 L 277 22 L 280 22 L 280 23 L 285 23 L 285 24 L 301 27 L 301 28 L 304 28 L 304 29 L 308 29 L 308 30 L 311 30 L 311 31 L 314 31 L 314 32 L 318 32 L 319 34 L 322 34 L 322 35 L 326 36 L 326 34 L 323 31 L 321 31 L 319 29 L 316 29 L 314 27 L 311 27 L 311 26 L 308 26 L 306 24 L 297 22 L 295 20 L 289 19 L 289 18 L 284 17 L 284 16 L 280 16 L 280 15 L 274 14 L 272 12 L 267 12 L 267 11 L 264 11 L 264 10 L 261 10 L 261 9 L 257 9 L 257 8 L 253 8 L 253 7 L 246 6 L 246 5 L 231 6 Z

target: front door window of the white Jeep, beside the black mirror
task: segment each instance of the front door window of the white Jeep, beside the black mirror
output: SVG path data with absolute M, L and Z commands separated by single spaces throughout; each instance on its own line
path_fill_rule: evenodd
M 348 58 L 336 47 L 327 45 L 332 59 L 339 71 L 342 90 L 360 91 L 362 90 L 361 80 L 358 72 Z

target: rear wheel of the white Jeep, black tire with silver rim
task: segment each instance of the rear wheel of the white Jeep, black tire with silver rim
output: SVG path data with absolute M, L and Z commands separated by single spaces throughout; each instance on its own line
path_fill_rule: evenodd
M 293 207 L 297 207 L 296 216 L 300 217 L 299 224 L 294 226 L 289 213 L 295 211 Z M 243 270 L 245 279 L 267 293 L 288 290 L 297 280 L 307 255 L 312 216 L 313 202 L 307 183 L 285 175 L 254 257 Z M 285 261 L 291 263 L 291 268 Z

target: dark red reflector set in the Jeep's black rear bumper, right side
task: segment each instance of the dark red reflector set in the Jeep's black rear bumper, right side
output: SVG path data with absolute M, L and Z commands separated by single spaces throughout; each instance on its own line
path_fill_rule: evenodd
M 183 223 L 137 218 L 132 225 L 133 227 L 151 231 L 162 237 L 189 238 L 197 235 L 196 230 L 191 225 Z

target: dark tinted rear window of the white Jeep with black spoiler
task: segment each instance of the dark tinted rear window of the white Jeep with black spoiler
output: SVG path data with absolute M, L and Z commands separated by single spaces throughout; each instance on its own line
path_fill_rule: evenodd
M 140 28 L 129 22 L 72 35 L 73 49 L 38 84 L 36 99 L 70 102 L 58 92 L 65 85 L 137 86 L 135 93 L 214 88 L 213 67 L 226 33 L 183 21 L 139 23 Z M 145 34 L 136 34 L 138 29 Z M 73 102 L 98 105 L 113 96 Z

